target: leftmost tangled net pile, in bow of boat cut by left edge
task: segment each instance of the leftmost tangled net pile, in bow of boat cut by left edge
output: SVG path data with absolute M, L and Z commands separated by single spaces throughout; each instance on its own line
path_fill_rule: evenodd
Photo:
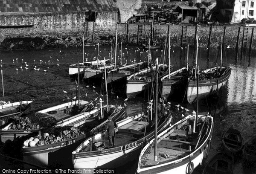
M 31 119 L 28 117 L 22 117 L 18 120 L 13 121 L 8 130 L 31 130 L 31 129 L 39 129 L 41 128 L 40 125 L 37 123 L 32 123 Z

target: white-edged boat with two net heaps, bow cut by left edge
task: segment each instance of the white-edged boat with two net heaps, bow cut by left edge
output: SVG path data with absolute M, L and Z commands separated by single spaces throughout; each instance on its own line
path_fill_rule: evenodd
M 89 104 L 89 102 L 84 100 L 79 101 L 80 109 L 78 108 L 78 100 L 76 100 L 36 112 L 35 117 L 38 118 L 37 121 L 41 123 L 41 126 L 39 124 L 32 124 L 28 118 L 24 118 L 23 122 L 17 120 L 9 123 L 0 131 L 1 141 L 13 140 L 51 126 L 64 126 L 77 121 L 77 119 L 88 117 L 91 113 L 98 111 L 98 109 L 92 110 L 93 105 Z M 83 110 L 84 108 L 86 110 Z

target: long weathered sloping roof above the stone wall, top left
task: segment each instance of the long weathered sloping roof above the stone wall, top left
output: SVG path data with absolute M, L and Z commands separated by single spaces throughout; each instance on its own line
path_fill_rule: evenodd
M 127 8 L 129 1 L 137 0 L 0 0 L 0 12 L 119 11 L 119 5 Z

